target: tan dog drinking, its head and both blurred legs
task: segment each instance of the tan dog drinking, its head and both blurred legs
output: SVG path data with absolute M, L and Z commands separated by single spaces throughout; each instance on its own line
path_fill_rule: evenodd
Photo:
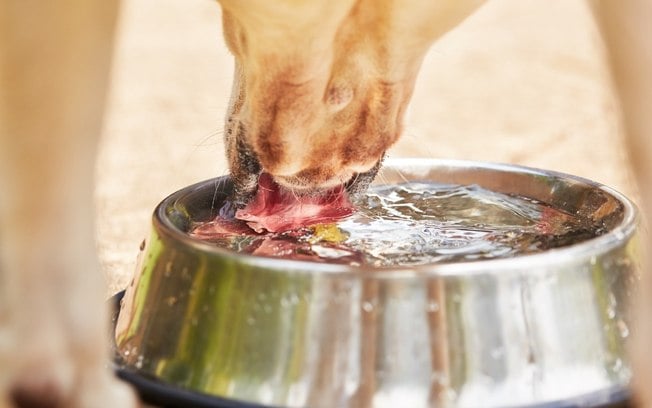
M 652 33 L 642 18 L 652 7 L 590 1 L 650 210 L 652 128 L 637 107 L 652 106 Z M 482 4 L 219 3 L 236 60 L 225 143 L 240 203 L 262 171 L 298 192 L 363 190 L 401 134 L 428 47 Z M 107 369 L 108 312 L 93 242 L 94 155 L 116 15 L 107 0 L 0 1 L 0 408 L 138 405 Z M 647 70 L 628 71 L 645 61 Z M 652 361 L 644 348 L 635 352 L 637 384 L 645 384 Z M 637 390 L 652 404 L 645 386 Z

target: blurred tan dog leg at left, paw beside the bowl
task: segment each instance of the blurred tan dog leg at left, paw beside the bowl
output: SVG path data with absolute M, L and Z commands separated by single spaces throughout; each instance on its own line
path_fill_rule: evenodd
M 93 228 L 117 4 L 0 2 L 0 406 L 130 407 Z

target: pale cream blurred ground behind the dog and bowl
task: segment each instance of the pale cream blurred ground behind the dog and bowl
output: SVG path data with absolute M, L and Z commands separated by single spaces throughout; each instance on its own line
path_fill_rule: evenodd
M 226 173 L 232 71 L 215 1 L 123 1 L 97 166 L 110 293 L 131 279 L 158 202 Z M 434 44 L 389 156 L 517 163 L 637 195 L 583 0 L 492 0 Z

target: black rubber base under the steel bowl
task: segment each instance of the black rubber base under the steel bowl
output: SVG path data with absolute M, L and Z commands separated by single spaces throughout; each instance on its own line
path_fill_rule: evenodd
M 114 325 L 120 313 L 120 301 L 123 296 L 124 291 L 116 294 L 110 299 L 113 310 L 111 321 Z M 116 375 L 120 379 L 131 384 L 140 395 L 142 401 L 151 405 L 161 408 L 281 408 L 219 398 L 175 387 L 129 369 L 124 365 L 117 352 L 114 353 L 114 355 L 115 361 L 113 366 Z M 604 403 L 605 395 L 609 396 L 608 399 L 611 402 Z M 634 408 L 633 403 L 629 401 L 630 394 L 628 391 L 615 390 L 613 392 L 606 391 L 599 394 L 580 396 L 573 398 L 572 401 L 565 400 L 550 402 L 536 406 L 529 406 L 529 408 Z M 326 406 L 328 406 L 328 404 L 326 404 Z

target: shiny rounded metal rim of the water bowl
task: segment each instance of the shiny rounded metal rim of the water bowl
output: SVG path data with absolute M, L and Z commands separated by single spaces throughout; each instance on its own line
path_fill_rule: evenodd
M 208 242 L 191 238 L 183 231 L 180 231 L 166 216 L 165 209 L 174 205 L 181 197 L 190 194 L 193 191 L 203 189 L 207 184 L 215 184 L 216 180 L 219 180 L 223 177 L 228 177 L 222 176 L 192 184 L 166 197 L 154 210 L 154 214 L 152 216 L 154 228 L 158 229 L 160 233 L 168 235 L 169 237 L 182 243 L 188 248 L 229 259 L 241 265 L 249 265 L 269 269 L 270 272 L 275 269 L 279 269 L 283 271 L 293 270 L 297 273 L 308 274 L 330 273 L 338 275 L 362 275 L 360 277 L 373 279 L 405 279 L 417 276 L 425 277 L 432 275 L 482 275 L 492 273 L 492 271 L 497 271 L 498 273 L 507 273 L 509 271 L 527 270 L 528 273 L 531 273 L 535 270 L 546 270 L 549 267 L 556 265 L 573 264 L 587 259 L 592 260 L 596 259 L 600 254 L 607 253 L 617 248 L 622 244 L 623 240 L 629 240 L 634 235 L 638 223 L 639 215 L 636 206 L 630 199 L 628 199 L 620 192 L 601 183 L 558 171 L 542 170 L 534 167 L 494 162 L 425 158 L 387 159 L 383 167 L 448 167 L 452 169 L 478 169 L 521 173 L 533 176 L 557 177 L 560 179 L 578 182 L 589 187 L 594 187 L 611 195 L 624 207 L 623 220 L 613 230 L 607 232 L 604 235 L 600 235 L 598 237 L 591 238 L 577 244 L 549 249 L 545 252 L 518 255 L 510 258 L 391 267 L 372 267 L 368 265 L 354 266 L 294 259 L 280 259 L 274 257 L 236 253 L 217 247 Z

